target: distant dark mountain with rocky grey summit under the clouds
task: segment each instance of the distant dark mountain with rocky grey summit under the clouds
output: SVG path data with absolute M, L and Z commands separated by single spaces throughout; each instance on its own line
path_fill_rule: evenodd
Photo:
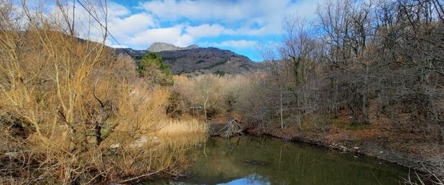
M 244 55 L 217 48 L 200 48 L 196 45 L 178 47 L 172 44 L 154 43 L 148 50 L 116 49 L 116 53 L 128 52 L 140 60 L 149 51 L 157 51 L 173 74 L 197 76 L 204 73 L 237 74 L 258 71 L 262 64 L 251 61 Z

